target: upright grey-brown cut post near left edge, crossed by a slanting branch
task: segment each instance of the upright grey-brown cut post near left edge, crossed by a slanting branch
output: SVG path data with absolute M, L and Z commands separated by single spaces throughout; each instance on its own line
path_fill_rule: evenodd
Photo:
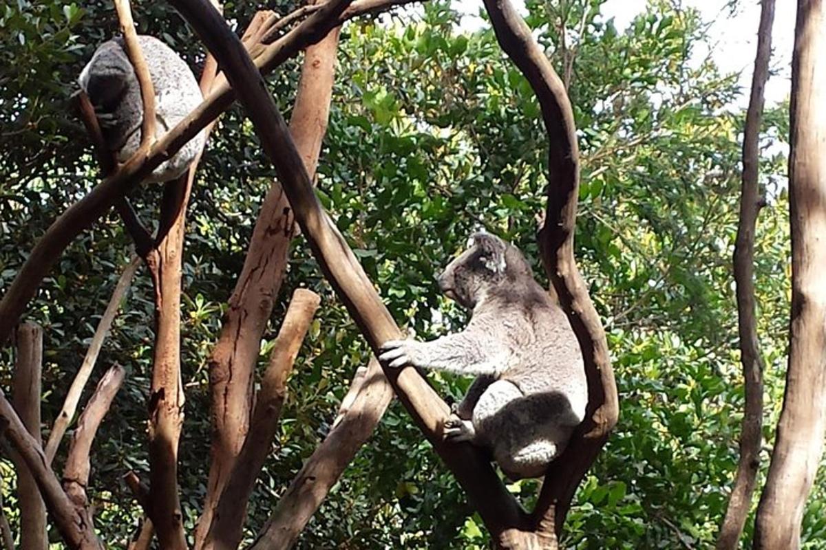
M 43 368 L 43 329 L 31 322 L 17 327 L 17 363 L 12 375 L 12 406 L 38 444 L 40 437 L 40 386 Z M 22 458 L 14 454 L 17 497 L 20 502 L 20 546 L 26 550 L 49 548 L 46 508 L 35 478 Z

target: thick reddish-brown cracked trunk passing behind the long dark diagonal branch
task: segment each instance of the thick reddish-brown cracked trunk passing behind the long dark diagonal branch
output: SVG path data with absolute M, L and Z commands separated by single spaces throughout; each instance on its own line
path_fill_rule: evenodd
M 266 14 L 260 15 L 245 33 L 249 40 L 263 30 Z M 327 129 L 338 44 L 339 29 L 336 28 L 307 49 L 301 68 L 290 132 L 310 174 L 316 172 Z M 207 499 L 198 521 L 196 548 L 200 548 L 207 535 L 211 517 L 249 429 L 253 374 L 261 337 L 281 288 L 294 236 L 292 209 L 278 181 L 273 181 L 256 220 L 244 267 L 230 296 L 221 336 L 210 358 L 212 462 Z

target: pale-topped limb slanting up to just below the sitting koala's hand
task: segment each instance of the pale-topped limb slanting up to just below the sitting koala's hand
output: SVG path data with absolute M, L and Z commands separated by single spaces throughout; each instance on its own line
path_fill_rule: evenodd
M 393 397 L 375 357 L 359 368 L 330 433 L 292 479 L 251 550 L 287 550 L 306 527 L 344 468 L 373 434 Z

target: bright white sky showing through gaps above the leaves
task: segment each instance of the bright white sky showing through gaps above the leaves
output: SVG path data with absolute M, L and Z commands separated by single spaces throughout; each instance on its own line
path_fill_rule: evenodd
M 524 12 L 522 0 L 511 0 Z M 644 12 L 646 0 L 608 0 L 602 6 L 604 19 L 614 17 L 618 31 L 624 31 L 638 13 Z M 760 2 L 741 0 L 738 12 L 729 16 L 727 0 L 682 0 L 684 7 L 700 10 L 704 21 L 710 22 L 710 44 L 707 48 L 712 58 L 724 73 L 740 72 L 743 95 L 739 104 L 748 106 L 748 91 L 751 88 L 754 54 L 757 52 L 757 23 L 760 21 Z M 771 69 L 776 72 L 766 86 L 767 105 L 785 99 L 790 92 L 791 50 L 794 43 L 795 3 L 790 0 L 776 2 L 774 28 L 772 29 Z M 466 14 L 462 26 L 468 29 L 484 25 L 476 14 L 482 7 L 481 0 L 457 0 L 453 2 L 459 12 Z M 705 58 L 708 50 L 696 49 L 695 55 Z

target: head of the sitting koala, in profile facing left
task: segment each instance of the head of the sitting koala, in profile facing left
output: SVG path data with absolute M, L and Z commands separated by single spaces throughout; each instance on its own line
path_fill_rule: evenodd
M 495 235 L 474 233 L 468 240 L 468 250 L 439 275 L 439 288 L 465 308 L 474 308 L 489 287 L 505 278 L 507 247 Z

